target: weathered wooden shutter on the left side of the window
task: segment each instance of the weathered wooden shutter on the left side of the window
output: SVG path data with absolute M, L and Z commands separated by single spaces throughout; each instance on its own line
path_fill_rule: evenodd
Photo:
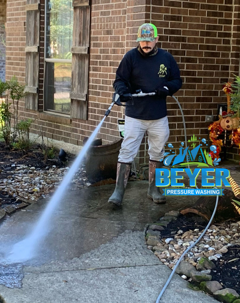
M 25 107 L 38 110 L 39 85 L 39 0 L 26 4 L 26 88 Z

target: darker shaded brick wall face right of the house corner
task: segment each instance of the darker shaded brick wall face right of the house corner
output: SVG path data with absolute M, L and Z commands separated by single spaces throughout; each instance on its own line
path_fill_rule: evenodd
M 199 141 L 207 139 L 209 122 L 205 122 L 205 115 L 216 116 L 218 103 L 226 103 L 223 82 L 239 74 L 238 3 L 234 0 L 151 1 L 149 21 L 158 28 L 159 47 L 169 51 L 181 69 L 183 86 L 176 96 L 183 108 L 187 135 L 195 134 Z M 180 110 L 170 97 L 168 117 L 169 142 L 178 148 L 184 140 L 183 123 Z M 228 158 L 239 160 L 237 148 L 228 152 Z

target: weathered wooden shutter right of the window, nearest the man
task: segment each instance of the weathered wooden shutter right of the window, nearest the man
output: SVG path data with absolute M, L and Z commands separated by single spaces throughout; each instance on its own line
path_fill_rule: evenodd
M 71 117 L 84 120 L 88 114 L 90 8 L 89 0 L 73 0 Z

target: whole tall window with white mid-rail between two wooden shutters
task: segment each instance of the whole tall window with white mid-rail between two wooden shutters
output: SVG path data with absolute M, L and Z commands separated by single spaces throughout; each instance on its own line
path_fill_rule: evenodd
M 70 115 L 72 0 L 46 0 L 44 110 Z

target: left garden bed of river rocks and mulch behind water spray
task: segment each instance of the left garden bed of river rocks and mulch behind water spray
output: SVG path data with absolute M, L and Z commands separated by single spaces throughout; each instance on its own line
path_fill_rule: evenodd
M 0 143 L 0 219 L 25 208 L 34 201 L 49 197 L 66 175 L 75 158 L 69 155 L 60 161 L 58 153 L 44 163 L 40 148 L 29 152 L 10 150 Z M 82 164 L 69 185 L 70 190 L 91 185 Z

